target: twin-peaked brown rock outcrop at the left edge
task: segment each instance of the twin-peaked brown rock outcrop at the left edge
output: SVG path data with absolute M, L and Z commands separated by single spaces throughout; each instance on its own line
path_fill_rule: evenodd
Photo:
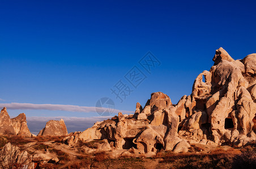
M 3 108 L 0 113 L 0 135 L 31 137 L 32 134 L 28 129 L 25 114 L 19 114 L 11 119 L 6 108 Z

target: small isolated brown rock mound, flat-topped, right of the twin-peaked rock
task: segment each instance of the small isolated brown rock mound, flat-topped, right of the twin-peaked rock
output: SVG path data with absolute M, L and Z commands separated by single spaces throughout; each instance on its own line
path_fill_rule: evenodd
M 67 127 L 63 119 L 60 121 L 51 120 L 46 123 L 37 136 L 65 136 L 67 135 Z

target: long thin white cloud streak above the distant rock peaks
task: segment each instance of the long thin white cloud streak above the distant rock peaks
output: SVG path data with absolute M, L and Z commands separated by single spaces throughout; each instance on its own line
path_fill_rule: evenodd
M 31 104 L 31 103 L 1 103 L 1 107 L 13 110 L 61 110 L 67 112 L 96 112 L 96 107 L 93 106 L 78 106 L 78 105 L 61 105 L 61 104 Z M 110 108 L 109 108 L 110 109 Z M 108 108 L 97 108 L 97 112 L 105 112 Z M 133 111 L 111 109 L 112 113 L 122 112 L 123 114 L 131 114 Z

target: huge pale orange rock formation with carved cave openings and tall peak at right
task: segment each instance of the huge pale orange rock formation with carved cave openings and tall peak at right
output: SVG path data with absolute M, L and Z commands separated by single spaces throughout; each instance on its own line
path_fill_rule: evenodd
M 212 60 L 210 71 L 195 79 L 192 94 L 176 105 L 162 92 L 153 93 L 143 109 L 136 104 L 134 115 L 118 113 L 97 122 L 79 139 L 107 139 L 117 149 L 140 153 L 186 152 L 192 143 L 242 146 L 255 141 L 256 54 L 234 60 L 219 48 Z

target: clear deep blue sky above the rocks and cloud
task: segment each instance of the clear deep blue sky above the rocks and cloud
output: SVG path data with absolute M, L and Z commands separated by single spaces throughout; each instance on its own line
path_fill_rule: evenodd
M 255 1 L 0 1 L 0 103 L 95 106 L 110 97 L 135 110 L 152 92 L 174 104 L 223 47 L 256 52 Z M 148 74 L 138 61 L 161 62 Z M 110 88 L 133 66 L 147 78 L 120 103 Z M 93 117 L 95 112 L 8 110 L 14 116 Z M 114 114 L 113 114 L 114 115 Z

